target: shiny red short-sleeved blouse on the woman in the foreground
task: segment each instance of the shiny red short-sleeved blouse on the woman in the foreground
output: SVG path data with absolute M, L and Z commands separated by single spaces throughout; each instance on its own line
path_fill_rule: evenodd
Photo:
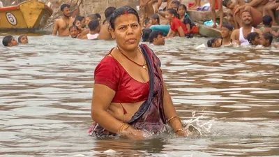
M 149 96 L 149 82 L 138 82 L 110 56 L 100 61 L 94 79 L 95 84 L 103 84 L 116 92 L 112 103 L 136 103 L 147 100 Z

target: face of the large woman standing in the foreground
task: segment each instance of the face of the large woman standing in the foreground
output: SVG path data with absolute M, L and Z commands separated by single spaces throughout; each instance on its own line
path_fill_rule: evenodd
M 125 14 L 116 17 L 114 21 L 114 30 L 111 31 L 112 37 L 121 49 L 133 51 L 137 49 L 140 43 L 142 27 L 133 14 Z

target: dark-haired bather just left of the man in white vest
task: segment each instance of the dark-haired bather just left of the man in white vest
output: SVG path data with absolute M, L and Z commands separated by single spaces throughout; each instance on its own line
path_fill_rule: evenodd
M 231 39 L 232 30 L 233 27 L 231 25 L 223 24 L 223 27 L 221 27 L 221 36 L 222 36 L 221 45 L 231 45 L 232 43 L 240 45 L 239 40 Z

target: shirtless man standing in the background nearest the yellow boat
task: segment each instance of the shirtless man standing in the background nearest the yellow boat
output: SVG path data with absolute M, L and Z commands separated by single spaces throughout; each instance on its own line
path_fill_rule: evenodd
M 60 7 L 63 16 L 55 20 L 52 35 L 56 36 L 69 36 L 69 27 L 73 25 L 74 18 L 70 17 L 70 5 L 63 3 Z

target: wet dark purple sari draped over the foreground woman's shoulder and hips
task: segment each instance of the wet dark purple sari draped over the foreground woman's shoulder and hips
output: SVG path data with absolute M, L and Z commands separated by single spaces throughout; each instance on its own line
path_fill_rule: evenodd
M 163 108 L 164 85 L 160 60 L 147 45 L 140 45 L 140 49 L 149 66 L 149 97 L 142 103 L 139 110 L 128 121 L 128 124 L 135 129 L 158 133 L 165 128 L 166 124 Z M 96 136 L 116 135 L 105 130 L 96 122 L 93 123 L 89 134 Z

